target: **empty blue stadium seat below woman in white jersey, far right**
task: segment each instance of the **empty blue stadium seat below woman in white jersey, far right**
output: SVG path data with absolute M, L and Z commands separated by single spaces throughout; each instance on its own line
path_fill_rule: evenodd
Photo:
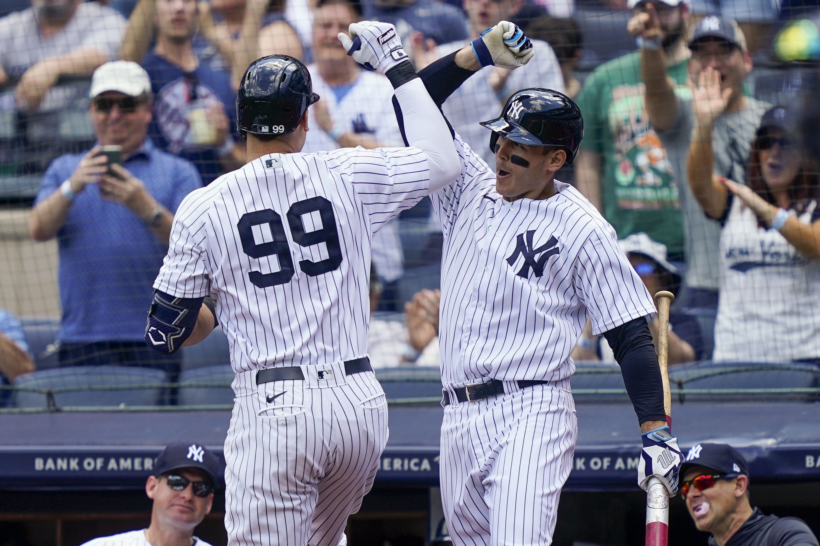
M 820 368 L 799 363 L 713 363 L 702 361 L 669 368 L 672 389 L 793 389 L 816 388 Z M 674 395 L 673 395 L 674 396 Z M 679 395 L 680 396 L 680 395 Z M 777 401 L 817 399 L 813 393 L 686 393 L 687 400 L 725 401 L 772 399 Z

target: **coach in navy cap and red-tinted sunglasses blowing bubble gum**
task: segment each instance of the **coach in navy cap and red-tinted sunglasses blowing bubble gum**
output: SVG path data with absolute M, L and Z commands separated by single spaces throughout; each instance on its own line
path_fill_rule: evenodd
M 749 503 L 749 467 L 727 444 L 697 444 L 681 464 L 681 496 L 709 546 L 818 546 L 796 517 L 764 516 Z

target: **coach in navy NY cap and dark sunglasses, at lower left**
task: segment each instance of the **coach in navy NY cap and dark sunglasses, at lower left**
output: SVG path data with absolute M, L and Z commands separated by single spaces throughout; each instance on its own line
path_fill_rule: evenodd
M 175 442 L 157 457 L 145 494 L 153 501 L 151 525 L 89 540 L 83 546 L 211 546 L 194 536 L 211 512 L 213 492 L 225 475 L 203 444 Z

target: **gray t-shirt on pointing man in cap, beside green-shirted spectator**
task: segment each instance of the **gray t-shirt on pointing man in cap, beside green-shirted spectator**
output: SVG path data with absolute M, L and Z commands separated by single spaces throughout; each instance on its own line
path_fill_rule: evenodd
M 746 183 L 754 133 L 763 113 L 770 107 L 767 102 L 746 97 L 743 110 L 717 118 L 712 131 L 715 174 Z M 686 237 L 686 286 L 717 291 L 720 285 L 718 247 L 721 226 L 704 213 L 692 193 L 686 172 L 686 158 L 689 155 L 694 124 L 691 100 L 678 98 L 677 114 L 672 126 L 666 131 L 658 131 L 658 134 L 672 162 L 681 199 Z

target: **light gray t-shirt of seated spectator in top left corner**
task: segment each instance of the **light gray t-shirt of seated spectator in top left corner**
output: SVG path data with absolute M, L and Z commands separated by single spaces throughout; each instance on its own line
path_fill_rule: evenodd
M 68 24 L 51 38 L 40 36 L 34 9 L 16 11 L 0 19 L 0 65 L 10 79 L 19 79 L 43 59 L 65 55 L 80 48 L 95 48 L 115 59 L 125 32 L 125 19 L 111 7 L 97 2 L 80 2 Z M 88 85 L 84 86 L 88 93 Z M 40 111 L 70 105 L 77 86 L 57 86 L 43 97 Z M 81 93 L 81 91 L 79 92 Z M 13 108 L 7 98 L 0 109 Z

